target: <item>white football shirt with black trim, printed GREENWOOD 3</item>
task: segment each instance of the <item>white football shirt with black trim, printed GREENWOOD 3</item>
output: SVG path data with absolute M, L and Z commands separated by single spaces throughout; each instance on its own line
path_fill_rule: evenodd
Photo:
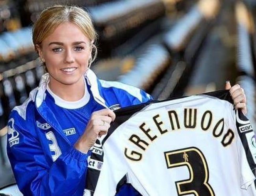
M 93 147 L 85 195 L 256 195 L 256 137 L 228 91 L 116 111 Z M 102 152 L 103 149 L 103 152 Z

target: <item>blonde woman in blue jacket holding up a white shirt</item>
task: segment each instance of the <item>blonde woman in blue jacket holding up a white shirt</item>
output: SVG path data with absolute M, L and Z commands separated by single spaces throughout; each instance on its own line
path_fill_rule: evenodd
M 82 195 L 89 149 L 115 120 L 111 109 L 152 99 L 96 78 L 89 69 L 95 39 L 88 13 L 78 7 L 50 7 L 34 24 L 33 43 L 48 73 L 8 121 L 7 152 L 24 195 Z M 246 112 L 243 89 L 235 85 L 230 93 Z

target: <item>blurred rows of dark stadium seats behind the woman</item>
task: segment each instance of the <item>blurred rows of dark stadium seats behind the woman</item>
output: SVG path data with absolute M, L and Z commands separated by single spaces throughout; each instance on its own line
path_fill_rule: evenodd
M 99 78 L 158 100 L 221 90 L 230 80 L 245 89 L 255 127 L 256 0 L 0 0 L 0 189 L 15 183 L 6 156 L 9 113 L 43 74 L 31 26 L 54 4 L 91 14 L 99 35 L 91 68 Z

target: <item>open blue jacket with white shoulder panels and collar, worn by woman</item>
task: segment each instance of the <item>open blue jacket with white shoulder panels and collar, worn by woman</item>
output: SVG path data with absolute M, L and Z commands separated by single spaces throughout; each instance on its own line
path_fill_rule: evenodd
M 22 105 L 15 107 L 8 121 L 7 154 L 20 191 L 24 195 L 83 195 L 87 158 L 91 152 L 77 151 L 67 140 L 61 116 L 55 116 L 45 102 L 49 75 L 44 74 Z M 85 75 L 94 99 L 106 108 L 148 102 L 150 95 L 119 82 L 99 80 L 90 69 Z M 47 134 L 54 137 L 47 139 Z M 58 143 L 58 157 L 50 145 Z M 56 147 L 53 147 L 56 149 Z

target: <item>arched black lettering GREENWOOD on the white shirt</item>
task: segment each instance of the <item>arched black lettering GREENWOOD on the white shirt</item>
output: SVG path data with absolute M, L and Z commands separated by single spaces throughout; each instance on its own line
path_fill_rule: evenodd
M 143 122 L 139 125 L 139 134 L 132 134 L 128 139 L 136 150 L 130 150 L 126 147 L 124 149 L 126 158 L 132 161 L 140 161 L 143 158 L 143 152 L 147 150 L 150 143 L 163 134 L 176 131 L 211 131 L 213 138 L 221 138 L 220 141 L 223 147 L 234 141 L 234 131 L 231 129 L 224 130 L 224 118 L 213 123 L 214 116 L 209 110 L 204 111 L 202 116 L 199 116 L 198 109 L 185 108 L 183 113 L 180 114 L 183 115 L 184 120 L 174 110 L 167 111 L 167 113 L 169 122 L 163 122 L 160 114 L 156 114 L 152 117 L 152 120 L 150 119 L 147 123 Z M 165 127 L 165 125 L 168 127 Z

